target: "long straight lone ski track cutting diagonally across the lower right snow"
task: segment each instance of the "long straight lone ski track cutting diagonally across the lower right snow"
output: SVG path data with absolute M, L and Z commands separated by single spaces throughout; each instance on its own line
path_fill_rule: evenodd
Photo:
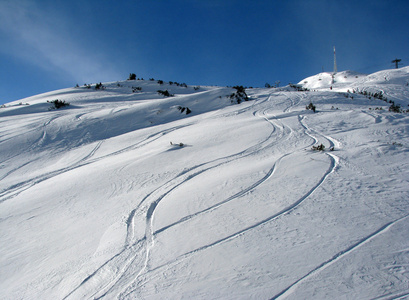
M 324 261 L 319 266 L 317 266 L 316 268 L 314 268 L 313 270 L 308 272 L 306 275 L 304 275 L 303 277 L 301 277 L 300 279 L 298 279 L 297 281 L 292 283 L 290 286 L 288 286 L 287 288 L 285 288 L 284 290 L 282 290 L 281 292 L 279 292 L 278 294 L 273 296 L 271 299 L 281 299 L 281 298 L 283 298 L 285 296 L 288 296 L 289 294 L 294 292 L 294 290 L 298 287 L 298 285 L 300 283 L 304 282 L 309 277 L 314 276 L 315 274 L 319 273 L 320 271 L 322 271 L 322 270 L 326 269 L 327 267 L 331 266 L 332 264 L 336 263 L 338 260 L 342 259 L 344 256 L 348 255 L 352 251 L 354 251 L 354 250 L 358 249 L 359 247 L 367 244 L 372 239 L 376 238 L 378 235 L 381 235 L 382 233 L 388 231 L 393 225 L 395 225 L 396 223 L 402 221 L 403 219 L 407 218 L 408 216 L 409 215 L 406 215 L 406 216 L 401 217 L 401 218 L 399 218 L 399 219 L 397 219 L 395 221 L 392 221 L 392 222 L 389 222 L 389 223 L 383 225 L 382 227 L 380 227 L 379 229 L 377 229 L 373 233 L 369 234 L 368 236 L 362 238 L 361 240 L 359 240 L 355 244 L 353 244 L 353 245 L 347 247 L 346 249 L 338 252 L 337 254 L 332 256 L 330 259 Z

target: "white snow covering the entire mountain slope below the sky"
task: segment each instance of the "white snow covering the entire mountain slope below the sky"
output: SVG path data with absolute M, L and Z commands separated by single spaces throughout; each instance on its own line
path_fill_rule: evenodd
M 7 104 L 0 298 L 409 297 L 409 116 L 352 93 L 406 109 L 408 82 L 321 73 L 232 104 L 136 80 Z

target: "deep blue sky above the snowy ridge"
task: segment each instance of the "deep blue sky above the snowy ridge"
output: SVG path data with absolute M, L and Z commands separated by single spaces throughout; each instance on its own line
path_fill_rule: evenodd
M 0 103 L 77 83 L 281 85 L 409 65 L 409 1 L 0 0 Z

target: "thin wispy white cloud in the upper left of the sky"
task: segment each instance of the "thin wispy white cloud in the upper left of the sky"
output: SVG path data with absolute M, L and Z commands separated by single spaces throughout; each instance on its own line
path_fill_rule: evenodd
M 119 78 L 102 55 L 90 53 L 69 34 L 69 20 L 32 1 L 0 3 L 1 51 L 79 82 Z M 101 63 L 104 62 L 104 63 Z

